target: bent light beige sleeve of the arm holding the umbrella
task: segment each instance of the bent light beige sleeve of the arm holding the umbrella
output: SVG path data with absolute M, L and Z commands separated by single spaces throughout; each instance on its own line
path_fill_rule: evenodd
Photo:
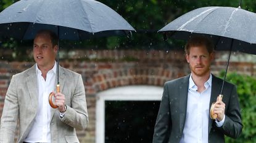
M 77 129 L 85 129 L 88 125 L 88 111 L 85 99 L 85 87 L 81 75 L 76 76 L 77 82 L 75 83 L 75 91 L 72 95 L 71 105 L 67 106 L 67 110 L 63 118 L 60 118 L 62 122 Z

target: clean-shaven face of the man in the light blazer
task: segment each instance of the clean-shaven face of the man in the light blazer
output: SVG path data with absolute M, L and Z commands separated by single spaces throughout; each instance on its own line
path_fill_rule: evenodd
M 48 33 L 36 35 L 33 45 L 33 56 L 39 69 L 49 70 L 54 66 L 57 48 L 57 45 L 53 47 Z

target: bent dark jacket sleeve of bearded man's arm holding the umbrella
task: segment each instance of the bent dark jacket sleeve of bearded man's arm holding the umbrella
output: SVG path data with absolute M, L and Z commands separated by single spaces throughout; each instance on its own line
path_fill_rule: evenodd
M 235 86 L 232 88 L 231 96 L 229 98 L 229 106 L 226 108 L 225 121 L 220 129 L 226 136 L 237 138 L 242 133 L 242 120 Z

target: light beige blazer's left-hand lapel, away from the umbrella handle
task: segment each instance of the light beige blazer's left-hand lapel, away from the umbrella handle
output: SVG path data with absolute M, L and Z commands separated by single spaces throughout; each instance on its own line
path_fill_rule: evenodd
M 38 83 L 36 77 L 36 64 L 32 68 L 28 69 L 28 74 L 26 78 L 28 93 L 30 95 L 32 107 L 38 108 Z

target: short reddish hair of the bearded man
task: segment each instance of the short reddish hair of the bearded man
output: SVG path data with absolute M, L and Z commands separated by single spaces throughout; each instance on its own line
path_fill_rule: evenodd
M 191 47 L 196 47 L 196 46 L 205 46 L 209 53 L 214 52 L 213 43 L 209 38 L 207 38 L 205 36 L 194 36 L 194 37 L 191 37 L 191 39 L 188 40 L 188 42 L 185 46 L 185 53 L 189 55 L 190 48 Z

